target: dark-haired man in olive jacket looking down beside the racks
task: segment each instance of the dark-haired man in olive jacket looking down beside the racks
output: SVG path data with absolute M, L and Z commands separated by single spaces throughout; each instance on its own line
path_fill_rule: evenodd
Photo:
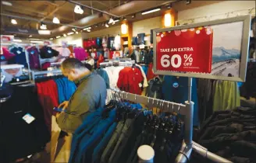
M 78 84 L 69 101 L 59 105 L 63 109 L 62 113 L 56 115 L 59 127 L 68 133 L 74 133 L 88 113 L 105 106 L 105 81 L 90 71 L 89 67 L 76 58 L 67 58 L 61 65 L 62 74 Z

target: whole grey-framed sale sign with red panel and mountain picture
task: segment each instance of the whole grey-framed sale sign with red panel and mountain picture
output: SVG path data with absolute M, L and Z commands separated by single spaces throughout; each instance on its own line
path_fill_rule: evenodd
M 251 16 L 155 29 L 157 75 L 244 82 Z

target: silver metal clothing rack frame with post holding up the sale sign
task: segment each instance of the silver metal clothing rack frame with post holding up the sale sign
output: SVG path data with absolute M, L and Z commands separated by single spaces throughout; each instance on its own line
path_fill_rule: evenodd
M 189 88 L 189 95 L 188 100 L 184 104 L 176 103 L 176 102 L 169 102 L 162 99 L 154 99 L 151 97 L 145 97 L 142 95 L 135 95 L 128 92 L 123 92 L 115 89 L 110 89 L 112 93 L 116 93 L 116 96 L 119 99 L 126 99 L 131 102 L 138 102 L 146 105 L 151 105 L 154 107 L 159 108 L 161 111 L 169 111 L 169 112 L 176 112 L 180 115 L 185 116 L 184 118 L 184 126 L 185 126 L 185 137 L 183 141 L 183 145 L 180 149 L 180 154 L 176 157 L 176 162 L 187 162 L 190 159 L 190 155 L 192 150 L 201 154 L 204 158 L 208 158 L 215 162 L 231 162 L 226 160 L 225 158 L 221 158 L 220 156 L 213 154 L 212 152 L 208 151 L 205 147 L 195 143 L 192 141 L 193 136 L 193 109 L 194 109 L 194 102 L 191 101 L 191 88 L 192 88 L 192 78 L 189 78 L 188 83 Z M 147 161 L 144 161 L 147 162 Z

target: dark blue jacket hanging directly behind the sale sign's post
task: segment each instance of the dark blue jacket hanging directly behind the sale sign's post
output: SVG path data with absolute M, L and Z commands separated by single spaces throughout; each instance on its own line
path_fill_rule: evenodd
M 188 99 L 188 78 L 175 76 L 165 76 L 162 82 L 163 99 L 170 102 L 184 103 Z M 198 102 L 197 102 L 197 82 L 192 79 L 192 95 L 191 100 L 194 102 L 193 125 L 199 124 L 198 120 Z

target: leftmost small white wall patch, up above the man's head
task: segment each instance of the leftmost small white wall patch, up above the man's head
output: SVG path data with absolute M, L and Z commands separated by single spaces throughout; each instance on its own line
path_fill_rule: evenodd
M 52 40 L 52 43 L 62 45 L 62 40 L 67 41 L 69 44 L 76 44 L 76 46 L 83 47 L 83 39 L 81 33 L 73 34 L 70 36 L 62 36 L 59 39 Z

